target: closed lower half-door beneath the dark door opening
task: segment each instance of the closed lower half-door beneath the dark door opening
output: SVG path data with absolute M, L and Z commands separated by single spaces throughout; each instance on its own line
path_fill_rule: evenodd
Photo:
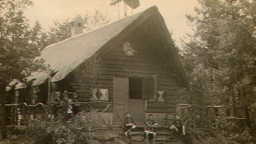
M 145 122 L 144 106 L 145 100 L 143 99 L 129 99 L 129 112 L 136 124 L 144 124 Z

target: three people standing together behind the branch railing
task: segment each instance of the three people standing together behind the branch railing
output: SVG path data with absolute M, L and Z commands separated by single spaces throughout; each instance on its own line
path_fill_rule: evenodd
M 71 119 L 73 115 L 78 113 L 78 104 L 71 105 L 70 103 L 76 103 L 77 101 L 77 92 L 68 92 L 64 91 L 61 95 L 61 92 L 57 91 L 54 94 L 53 101 L 53 115 L 54 117 L 59 116 L 60 113 L 63 113 L 67 120 Z

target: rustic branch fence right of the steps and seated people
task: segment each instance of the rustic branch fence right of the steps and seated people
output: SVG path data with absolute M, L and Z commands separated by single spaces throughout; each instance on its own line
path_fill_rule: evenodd
M 175 113 L 166 113 L 166 126 L 174 121 L 175 115 L 180 116 L 186 125 L 186 130 L 221 130 L 224 132 L 224 120 L 245 120 L 245 117 L 225 116 L 224 106 L 196 106 L 191 104 L 177 104 Z

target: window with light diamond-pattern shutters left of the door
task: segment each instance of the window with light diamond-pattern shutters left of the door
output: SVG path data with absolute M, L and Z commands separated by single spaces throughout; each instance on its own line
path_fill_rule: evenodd
M 91 88 L 91 101 L 108 101 L 109 88 Z

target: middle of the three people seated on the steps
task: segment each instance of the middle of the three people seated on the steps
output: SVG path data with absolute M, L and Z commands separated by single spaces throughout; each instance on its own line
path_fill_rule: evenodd
M 149 139 L 153 139 L 153 143 L 155 143 L 156 138 L 156 127 L 158 123 L 156 123 L 153 119 L 153 115 L 149 114 L 146 123 L 146 127 L 144 130 L 144 138 L 146 138 L 147 144 L 149 143 Z

